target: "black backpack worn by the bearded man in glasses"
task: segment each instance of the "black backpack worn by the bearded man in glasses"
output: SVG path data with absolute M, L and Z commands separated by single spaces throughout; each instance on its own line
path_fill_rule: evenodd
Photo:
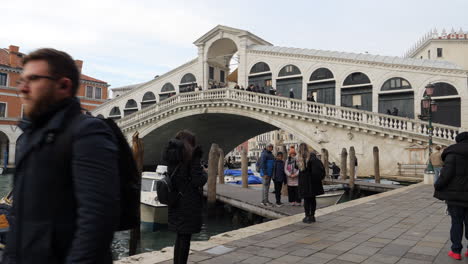
M 70 157 L 72 153 L 71 146 L 74 128 L 77 127 L 80 121 L 86 118 L 98 117 L 80 114 L 73 118 L 72 122 L 65 128 L 63 135 L 61 135 L 62 142 L 64 143 L 58 144 L 58 147 L 62 148 L 61 151 L 58 151 L 59 155 L 61 155 L 61 160 L 71 160 L 71 158 L 67 159 L 67 157 Z M 114 120 L 109 118 L 99 119 L 109 126 L 117 140 L 120 178 L 120 216 L 116 231 L 139 227 L 141 177 L 135 159 L 133 158 L 132 149 Z

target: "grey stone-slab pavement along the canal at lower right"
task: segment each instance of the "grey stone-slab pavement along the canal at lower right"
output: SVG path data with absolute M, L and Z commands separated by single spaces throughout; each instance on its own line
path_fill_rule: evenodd
M 468 263 L 447 257 L 450 217 L 432 192 L 419 184 L 319 216 L 313 224 L 296 222 L 194 251 L 189 263 Z

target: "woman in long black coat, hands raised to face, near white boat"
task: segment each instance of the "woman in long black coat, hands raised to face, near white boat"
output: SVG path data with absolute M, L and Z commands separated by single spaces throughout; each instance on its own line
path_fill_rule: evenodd
M 187 263 L 192 234 L 202 226 L 203 185 L 207 181 L 201 166 L 202 150 L 196 147 L 195 136 L 187 130 L 179 131 L 169 141 L 164 153 L 173 188 L 179 192 L 178 202 L 168 207 L 169 230 L 177 233 L 174 263 Z

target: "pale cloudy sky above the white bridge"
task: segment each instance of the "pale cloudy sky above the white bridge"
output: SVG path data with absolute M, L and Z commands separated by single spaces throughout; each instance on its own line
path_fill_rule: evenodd
M 0 47 L 54 47 L 112 87 L 147 81 L 197 56 L 218 24 L 277 46 L 400 56 L 430 29 L 468 30 L 467 0 L 2 1 Z

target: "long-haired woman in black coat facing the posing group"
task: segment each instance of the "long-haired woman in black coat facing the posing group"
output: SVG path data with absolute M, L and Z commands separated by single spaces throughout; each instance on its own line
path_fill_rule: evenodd
M 299 194 L 304 198 L 304 223 L 315 222 L 315 209 L 317 208 L 317 195 L 324 194 L 322 180 L 325 178 L 325 169 L 315 153 L 309 153 L 305 143 L 299 145 L 297 157 L 299 167 Z

